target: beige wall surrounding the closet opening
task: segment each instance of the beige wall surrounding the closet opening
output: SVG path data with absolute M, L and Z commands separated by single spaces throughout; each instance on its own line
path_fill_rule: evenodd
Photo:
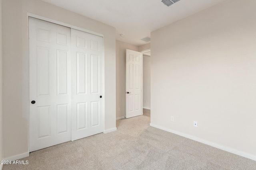
M 104 34 L 105 122 L 116 127 L 115 28 L 40 0 L 3 0 L 4 158 L 28 152 L 27 12 Z

